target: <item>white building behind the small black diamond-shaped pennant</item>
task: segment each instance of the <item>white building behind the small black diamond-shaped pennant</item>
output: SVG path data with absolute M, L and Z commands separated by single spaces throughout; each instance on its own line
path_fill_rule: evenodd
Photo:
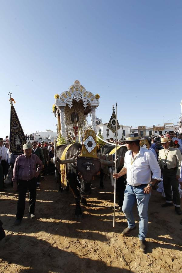
M 108 123 L 101 123 L 98 124 L 96 126 L 96 131 L 97 134 L 101 133 L 103 134 L 103 139 L 104 140 L 109 140 L 110 137 L 113 137 L 114 139 L 116 139 L 116 134 L 107 128 Z M 126 135 L 130 134 L 130 126 L 126 126 L 126 125 L 120 125 L 120 129 L 118 130 L 117 133 L 117 139 L 120 140 L 122 138 L 126 138 Z M 114 135 L 114 136 L 113 136 Z

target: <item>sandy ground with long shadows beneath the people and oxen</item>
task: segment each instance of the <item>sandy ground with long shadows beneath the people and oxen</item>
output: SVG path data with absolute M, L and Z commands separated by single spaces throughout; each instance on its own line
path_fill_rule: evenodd
M 0 272 L 182 272 L 181 216 L 174 207 L 161 208 L 163 197 L 152 192 L 149 202 L 148 253 L 139 248 L 137 229 L 128 237 L 123 213 L 116 211 L 113 228 L 113 188 L 108 178 L 99 189 L 92 183 L 90 206 L 83 218 L 74 215 L 71 192 L 61 194 L 54 176 L 37 191 L 36 219 L 28 218 L 28 199 L 22 224 L 14 225 L 17 193 L 0 194 L 0 218 L 6 238 L 0 242 Z M 28 195 L 27 195 L 28 197 Z M 135 206 L 136 207 L 136 206 Z

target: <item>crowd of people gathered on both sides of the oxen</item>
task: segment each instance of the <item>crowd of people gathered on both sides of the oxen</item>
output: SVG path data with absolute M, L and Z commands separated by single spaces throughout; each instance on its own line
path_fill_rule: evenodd
M 140 147 L 141 138 L 137 133 L 126 138 L 128 151 L 124 158 L 124 167 L 113 177 L 119 179 L 127 177 L 122 211 L 126 216 L 128 227 L 122 234 L 127 236 L 136 228 L 133 218 L 133 206 L 137 202 L 139 212 L 140 249 L 146 250 L 146 235 L 148 227 L 148 203 L 153 187 L 163 183 L 166 202 L 163 208 L 174 206 L 174 212 L 182 214 L 180 210 L 179 183 L 182 187 L 182 133 L 170 131 L 165 135 L 147 137 L 149 149 Z M 110 142 L 113 142 L 110 139 Z M 46 174 L 54 173 L 52 163 L 54 157 L 53 143 L 33 141 L 23 145 L 24 154 L 14 155 L 9 149 L 8 136 L 5 143 L 0 138 L 0 191 L 5 191 L 4 181 L 8 170 L 12 172 L 14 190 L 18 190 L 19 199 L 15 224 L 21 224 L 25 210 L 25 196 L 29 190 L 29 217 L 35 218 L 36 190 L 40 189 L 41 179 Z M 182 220 L 181 220 L 182 224 Z M 1 222 L 0 222 L 1 227 Z

